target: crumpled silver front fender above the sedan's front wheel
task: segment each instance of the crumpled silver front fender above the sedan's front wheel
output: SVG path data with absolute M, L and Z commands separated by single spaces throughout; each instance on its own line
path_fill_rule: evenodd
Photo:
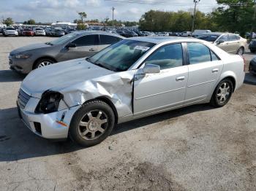
M 132 79 L 135 70 L 108 74 L 58 90 L 68 107 L 82 105 L 91 99 L 106 97 L 116 107 L 118 117 L 132 114 Z

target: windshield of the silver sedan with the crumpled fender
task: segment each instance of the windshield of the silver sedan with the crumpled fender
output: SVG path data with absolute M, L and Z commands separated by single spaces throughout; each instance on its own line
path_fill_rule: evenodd
M 112 71 L 126 71 L 153 46 L 150 42 L 122 40 L 92 56 L 88 61 Z

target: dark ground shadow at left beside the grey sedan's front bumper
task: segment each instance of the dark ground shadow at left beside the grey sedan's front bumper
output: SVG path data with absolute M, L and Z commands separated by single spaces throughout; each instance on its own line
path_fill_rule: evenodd
M 0 70 L 0 82 L 20 82 L 26 77 L 12 70 Z

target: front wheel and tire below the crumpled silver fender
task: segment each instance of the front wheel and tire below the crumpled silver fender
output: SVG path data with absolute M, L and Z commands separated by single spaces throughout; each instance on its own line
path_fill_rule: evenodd
M 108 104 L 98 100 L 89 101 L 72 117 L 69 137 L 83 147 L 91 147 L 105 140 L 114 125 L 115 114 Z

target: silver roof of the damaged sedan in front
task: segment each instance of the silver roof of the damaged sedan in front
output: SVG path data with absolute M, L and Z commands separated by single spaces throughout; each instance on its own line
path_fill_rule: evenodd
M 162 42 L 202 42 L 200 39 L 182 36 L 140 36 L 129 38 L 132 40 L 161 44 Z

